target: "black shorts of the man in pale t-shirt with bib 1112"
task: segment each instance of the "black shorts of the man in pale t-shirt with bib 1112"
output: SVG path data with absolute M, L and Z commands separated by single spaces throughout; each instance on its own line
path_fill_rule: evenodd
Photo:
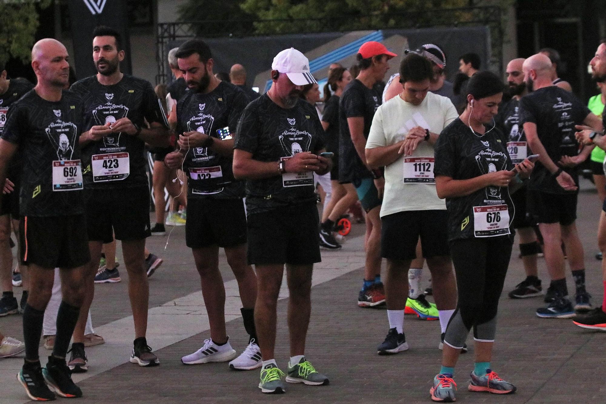
M 421 237 L 424 258 L 448 256 L 447 211 L 409 210 L 381 217 L 381 256 L 413 260 Z

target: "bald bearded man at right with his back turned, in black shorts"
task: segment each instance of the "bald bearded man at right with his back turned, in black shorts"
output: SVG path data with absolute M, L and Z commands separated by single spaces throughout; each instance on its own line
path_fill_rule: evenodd
M 574 125 L 600 127 L 602 123 L 572 93 L 551 84 L 551 62 L 547 56 L 540 53 L 530 56 L 524 61 L 522 71 L 532 92 L 520 99 L 519 121 L 528 147 L 539 154 L 528 180 L 528 210 L 539 224 L 551 277 L 545 298 L 550 301 L 547 308 L 539 308 L 536 315 L 567 319 L 574 317 L 575 311 L 591 308 L 585 290 L 583 246 L 574 223 L 579 189 L 574 167 L 587 159 L 593 147 L 584 147 L 578 152 Z M 574 307 L 567 297 L 562 241 L 576 286 Z

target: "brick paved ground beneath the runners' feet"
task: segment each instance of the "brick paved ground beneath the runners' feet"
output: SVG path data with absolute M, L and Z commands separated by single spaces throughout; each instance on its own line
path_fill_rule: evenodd
M 602 296 L 601 270 L 593 257 L 597 250 L 598 213 L 596 193 L 584 184 L 579 199 L 578 225 L 585 247 L 588 290 L 594 296 L 593 302 L 599 304 Z M 139 368 L 124 363 L 82 380 L 79 385 L 85 392 L 85 399 L 78 402 L 429 402 L 431 379 L 439 370 L 439 323 L 406 316 L 404 329 L 410 350 L 396 356 L 376 355 L 375 346 L 387 333 L 387 316 L 384 309 L 364 310 L 355 303 L 362 278 L 363 260 L 361 254 L 355 253 L 362 248 L 361 232 L 362 226 L 356 226 L 344 251 L 323 253 L 326 267 L 349 265 L 352 271 L 313 288 L 307 356 L 316 368 L 330 376 L 330 385 L 289 384 L 287 394 L 268 396 L 261 394 L 256 387 L 258 371 L 230 371 L 226 363 L 182 365 L 181 356 L 198 349 L 208 337 L 204 332 L 156 351 L 161 359 L 161 366 L 157 368 Z M 150 307 L 199 290 L 193 260 L 184 244 L 183 228 L 173 232 L 166 252 L 162 251 L 164 239 L 161 237 L 151 237 L 148 247 L 156 254 L 161 252 L 158 255 L 165 258 L 161 269 L 150 280 Z M 516 247 L 505 291 L 511 290 L 523 278 L 522 263 L 517 254 Z M 233 279 L 224 257 L 221 269 L 225 282 Z M 539 271 L 545 285 L 548 281 L 544 260 L 539 261 Z M 573 288 L 569 271 L 568 286 Z M 17 288 L 16 294 L 20 293 Z M 278 303 L 276 357 L 283 370 L 288 360 L 287 304 L 287 299 Z M 501 376 L 518 386 L 518 392 L 512 396 L 468 392 L 468 372 L 473 368 L 472 347 L 470 353 L 461 357 L 456 371 L 458 402 L 604 401 L 606 387 L 602 368 L 606 363 L 606 334 L 583 330 L 570 320 L 538 319 L 534 316 L 534 309 L 541 304 L 539 299 L 510 300 L 506 296 L 501 299 L 492 363 Z M 95 326 L 129 315 L 126 282 L 99 285 L 93 304 Z M 0 328 L 8 335 L 20 337 L 20 322 L 20 316 L 4 317 L 0 319 Z M 241 319 L 228 322 L 227 327 L 232 345 L 238 350 L 244 348 L 246 336 Z M 473 345 L 471 338 L 468 343 Z M 90 349 L 102 353 L 107 345 Z M 124 362 L 126 360 L 127 353 L 124 354 Z M 2 360 L 0 369 L 18 368 L 20 363 L 21 359 Z M 93 368 L 95 363 L 91 366 Z M 9 399 L 15 403 L 25 402 L 22 390 L 13 389 L 16 384 L 13 377 L 3 380 L 2 385 L 7 391 L 10 388 L 10 393 L 0 394 L 0 402 L 9 402 Z

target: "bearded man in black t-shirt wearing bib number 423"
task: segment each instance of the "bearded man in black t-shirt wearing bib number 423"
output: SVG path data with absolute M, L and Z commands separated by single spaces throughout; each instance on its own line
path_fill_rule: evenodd
M 69 362 L 75 371 L 87 369 L 84 326 L 95 293 L 94 282 L 120 280 L 117 268 L 105 268 L 96 274 L 102 245 L 112 242 L 114 235 L 122 241 L 135 322 L 130 362 L 140 366 L 159 363 L 145 340 L 149 300 L 145 238 L 151 235 L 145 144 L 168 146 L 168 123 L 151 84 L 120 71 L 124 49 L 118 31 L 97 27 L 93 36 L 93 61 L 98 73 L 72 85 L 72 91 L 83 100 L 85 132 L 79 144 L 91 256 L 87 296 Z

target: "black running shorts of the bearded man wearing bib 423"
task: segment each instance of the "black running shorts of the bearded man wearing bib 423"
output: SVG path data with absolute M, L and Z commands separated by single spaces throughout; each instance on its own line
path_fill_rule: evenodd
M 110 243 L 151 236 L 150 194 L 145 188 L 84 188 L 88 240 Z

